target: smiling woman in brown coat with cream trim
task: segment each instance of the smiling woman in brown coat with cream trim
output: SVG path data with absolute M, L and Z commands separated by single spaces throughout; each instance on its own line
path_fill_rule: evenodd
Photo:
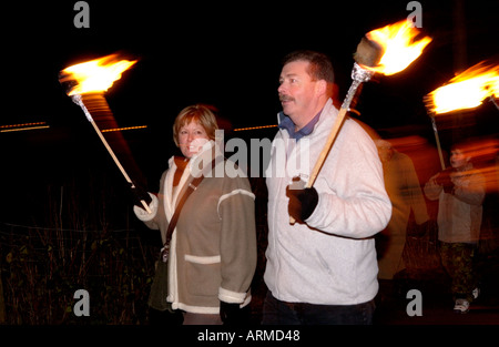
M 210 108 L 182 110 L 173 140 L 183 156 L 170 160 L 157 196 L 150 193 L 152 213 L 134 206 L 138 218 L 160 229 L 165 242 L 183 188 L 193 177 L 205 176 L 183 205 L 170 244 L 167 302 L 184 312 L 184 325 L 241 323 L 256 268 L 255 196 L 241 171 L 225 174 L 234 164 L 227 165 L 217 151 L 216 129 Z

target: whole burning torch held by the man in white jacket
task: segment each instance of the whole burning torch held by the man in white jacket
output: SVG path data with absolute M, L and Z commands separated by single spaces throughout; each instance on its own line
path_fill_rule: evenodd
M 431 39 L 428 37 L 416 40 L 418 35 L 418 29 L 411 22 L 403 20 L 373 30 L 360 40 L 357 45 L 357 51 L 354 54 L 355 63 L 352 70 L 352 85 L 305 187 L 312 187 L 314 185 L 327 154 L 342 129 L 342 124 L 349 111 L 350 103 L 358 86 L 364 82 L 368 82 L 377 72 L 391 75 L 410 65 L 422 53 L 425 47 L 431 42 Z M 293 217 L 291 217 L 291 223 L 295 223 Z

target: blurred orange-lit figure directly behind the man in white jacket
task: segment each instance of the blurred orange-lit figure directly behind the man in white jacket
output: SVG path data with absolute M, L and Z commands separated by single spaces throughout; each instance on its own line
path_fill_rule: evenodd
M 403 252 L 406 245 L 409 217 L 418 234 L 424 234 L 429 220 L 425 197 L 411 159 L 394 149 L 386 140 L 375 140 L 383 163 L 385 187 L 393 212 L 387 227 L 376 235 L 378 278 L 393 279 L 405 266 Z

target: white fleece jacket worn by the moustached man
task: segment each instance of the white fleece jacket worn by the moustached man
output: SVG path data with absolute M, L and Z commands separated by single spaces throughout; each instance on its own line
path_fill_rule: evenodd
M 286 186 L 294 176 L 308 180 L 337 114 L 329 100 L 309 135 L 295 142 L 281 129 L 273 141 L 264 279 L 284 302 L 355 305 L 378 290 L 373 236 L 390 220 L 391 203 L 377 149 L 354 120 L 345 120 L 315 181 L 314 213 L 306 224 L 289 224 Z

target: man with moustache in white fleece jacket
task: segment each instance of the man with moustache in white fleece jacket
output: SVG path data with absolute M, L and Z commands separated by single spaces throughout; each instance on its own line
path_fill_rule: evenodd
M 373 236 L 391 214 L 373 140 L 347 119 L 314 186 L 289 186 L 293 177 L 302 185 L 308 178 L 338 114 L 333 83 L 326 55 L 299 51 L 285 58 L 277 90 L 283 112 L 266 171 L 269 290 L 263 324 L 371 323 L 378 290 Z

